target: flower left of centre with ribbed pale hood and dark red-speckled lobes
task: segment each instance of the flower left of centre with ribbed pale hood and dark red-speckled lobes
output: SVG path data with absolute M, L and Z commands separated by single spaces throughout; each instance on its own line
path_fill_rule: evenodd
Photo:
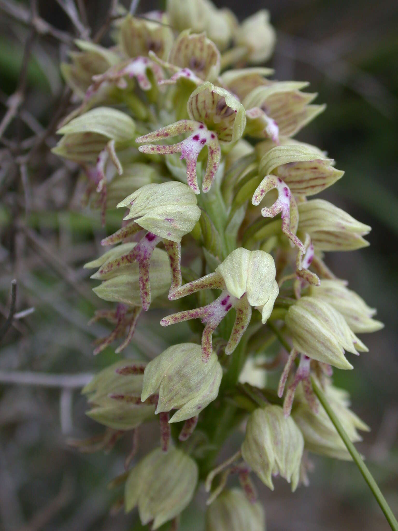
M 103 239 L 101 245 L 122 242 L 142 229 L 148 232 L 129 252 L 103 264 L 99 272 L 106 275 L 129 263 L 139 264 L 141 305 L 146 311 L 151 303 L 150 264 L 155 247 L 160 242 L 165 246 L 170 263 L 172 292 L 182 282 L 181 238 L 194 228 L 201 211 L 196 204 L 195 194 L 189 187 L 175 181 L 142 186 L 117 206 L 129 208 L 124 219 L 134 221 Z

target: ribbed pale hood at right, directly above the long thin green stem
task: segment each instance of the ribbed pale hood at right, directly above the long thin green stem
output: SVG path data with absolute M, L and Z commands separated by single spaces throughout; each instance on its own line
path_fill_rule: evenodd
M 353 354 L 367 350 L 343 316 L 318 298 L 301 297 L 290 306 L 285 323 L 298 352 L 338 369 L 352 369 L 344 350 Z

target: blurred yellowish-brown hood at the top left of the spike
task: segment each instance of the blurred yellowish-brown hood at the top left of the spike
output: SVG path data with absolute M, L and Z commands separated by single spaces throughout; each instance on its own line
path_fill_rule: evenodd
M 154 11 L 146 13 L 144 19 L 127 15 L 120 23 L 119 40 L 123 52 L 128 57 L 148 56 L 152 51 L 161 59 L 166 59 L 174 35 L 168 25 L 167 16 L 160 11 Z

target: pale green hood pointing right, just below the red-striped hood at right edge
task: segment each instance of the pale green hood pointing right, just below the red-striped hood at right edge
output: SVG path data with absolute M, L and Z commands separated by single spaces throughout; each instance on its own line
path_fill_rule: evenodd
M 354 251 L 369 245 L 362 236 L 371 227 L 328 201 L 306 201 L 298 205 L 298 210 L 298 230 L 309 234 L 318 251 Z

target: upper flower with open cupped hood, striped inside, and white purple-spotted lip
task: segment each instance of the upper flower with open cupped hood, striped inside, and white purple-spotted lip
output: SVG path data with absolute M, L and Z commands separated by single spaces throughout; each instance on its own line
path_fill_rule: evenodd
M 142 153 L 153 155 L 181 153 L 181 160 L 185 159 L 187 163 L 187 183 L 193 192 L 198 194 L 200 191 L 197 184 L 196 163 L 199 153 L 207 146 L 207 166 L 203 176 L 202 191 L 208 192 L 220 164 L 220 144 L 239 140 L 246 125 L 245 109 L 230 92 L 205 82 L 192 92 L 187 111 L 189 120 L 180 120 L 153 133 L 139 136 L 136 142 L 154 142 L 190 133 L 185 140 L 177 144 L 141 145 L 139 149 Z

